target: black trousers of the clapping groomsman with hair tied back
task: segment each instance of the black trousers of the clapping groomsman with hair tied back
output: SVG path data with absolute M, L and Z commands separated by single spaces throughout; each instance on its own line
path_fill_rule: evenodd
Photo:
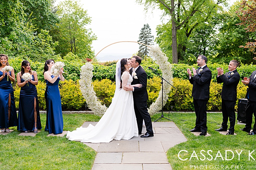
M 232 100 L 223 100 L 221 101 L 222 105 L 222 124 L 221 126 L 224 129 L 228 129 L 228 119 L 230 122 L 229 131 L 235 131 L 235 103 L 236 101 Z

